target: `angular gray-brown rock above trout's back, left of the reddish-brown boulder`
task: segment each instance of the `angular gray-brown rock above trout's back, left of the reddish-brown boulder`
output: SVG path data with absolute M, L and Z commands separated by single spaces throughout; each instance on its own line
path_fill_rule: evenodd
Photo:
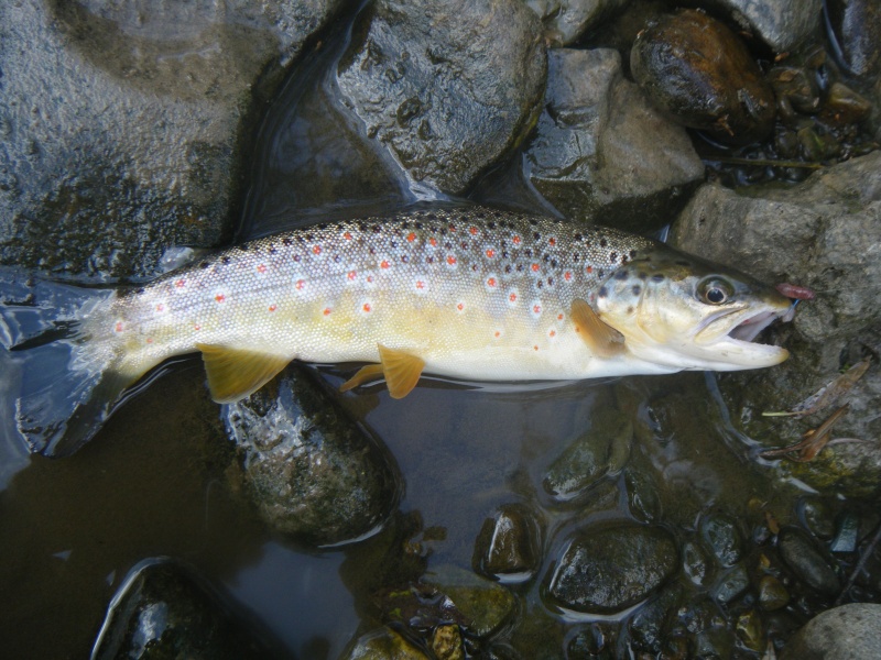
M 686 132 L 626 80 L 611 50 L 554 50 L 545 109 L 526 152 L 530 182 L 573 220 L 656 229 L 704 177 Z

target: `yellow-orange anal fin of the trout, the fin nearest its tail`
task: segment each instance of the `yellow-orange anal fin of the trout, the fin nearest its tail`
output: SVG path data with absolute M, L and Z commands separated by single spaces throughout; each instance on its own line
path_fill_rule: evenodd
M 196 348 L 202 351 L 211 398 L 218 404 L 231 404 L 257 392 L 291 361 L 247 349 L 211 344 Z

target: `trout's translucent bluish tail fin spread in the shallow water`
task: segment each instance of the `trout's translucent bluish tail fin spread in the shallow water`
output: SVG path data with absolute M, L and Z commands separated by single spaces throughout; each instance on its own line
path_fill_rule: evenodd
M 32 453 L 73 453 L 100 429 L 132 378 L 115 338 L 90 331 L 115 294 L 0 272 L 0 365 L 15 382 L 0 414 Z

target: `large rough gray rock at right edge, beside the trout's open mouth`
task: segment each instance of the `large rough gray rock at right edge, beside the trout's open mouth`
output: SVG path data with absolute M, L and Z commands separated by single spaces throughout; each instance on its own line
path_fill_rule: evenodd
M 753 187 L 741 195 L 703 186 L 676 220 L 671 242 L 711 261 L 747 271 L 772 284 L 814 289 L 795 320 L 765 341 L 785 344 L 792 358 L 780 366 L 726 374 L 719 380 L 744 431 L 766 444 L 797 442 L 834 410 L 808 418 L 765 418 L 787 410 L 881 348 L 881 152 L 824 168 L 804 183 Z M 881 483 L 881 373 L 870 367 L 839 403 L 849 413 L 834 438 L 860 442 L 828 446 L 807 463 L 781 464 L 818 490 L 870 495 Z

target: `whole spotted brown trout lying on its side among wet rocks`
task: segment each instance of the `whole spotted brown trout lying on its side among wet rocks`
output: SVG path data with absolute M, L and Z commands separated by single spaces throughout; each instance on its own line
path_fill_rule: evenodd
M 790 300 L 646 238 L 486 208 L 415 210 L 230 248 L 77 315 L 66 373 L 18 400 L 33 450 L 88 440 L 123 391 L 200 351 L 219 403 L 292 360 L 367 362 L 341 389 L 421 374 L 543 381 L 777 364 L 754 343 Z M 26 348 L 26 346 L 25 346 Z M 75 397 L 66 419 L 54 394 Z

